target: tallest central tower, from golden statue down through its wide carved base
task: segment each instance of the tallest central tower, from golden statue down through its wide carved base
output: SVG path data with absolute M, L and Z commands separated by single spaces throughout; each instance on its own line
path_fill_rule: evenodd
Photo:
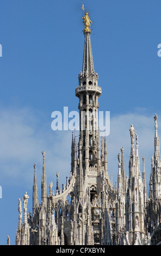
M 80 118 L 77 168 L 76 155 L 72 157 L 72 173 L 76 173 L 76 185 L 73 191 L 78 200 L 79 221 L 82 223 L 78 229 L 78 237 L 81 244 L 110 244 L 111 215 L 113 224 L 115 223 L 115 207 L 113 207 L 115 190 L 108 176 L 106 137 L 102 138 L 100 144 L 98 98 L 102 89 L 98 86 L 98 74 L 94 70 L 90 39 L 92 22 L 88 12 L 85 13 L 83 22 L 83 67 L 78 76 L 79 86 L 76 88 Z M 74 144 L 72 152 L 75 152 Z M 83 230 L 86 230 L 86 239 Z

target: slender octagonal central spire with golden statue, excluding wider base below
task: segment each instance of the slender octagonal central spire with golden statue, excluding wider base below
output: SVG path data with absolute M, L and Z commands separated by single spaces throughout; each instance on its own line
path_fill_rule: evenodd
M 83 68 L 79 75 L 79 86 L 76 96 L 79 98 L 80 134 L 79 144 L 82 147 L 82 168 L 84 175 L 89 175 L 89 170 L 98 174 L 100 159 L 100 137 L 98 133 L 98 97 L 101 87 L 98 87 L 98 74 L 94 70 L 90 40 L 90 19 L 88 13 L 84 16 L 84 55 Z M 106 152 L 106 150 L 104 150 Z M 105 156 L 106 158 L 106 156 Z

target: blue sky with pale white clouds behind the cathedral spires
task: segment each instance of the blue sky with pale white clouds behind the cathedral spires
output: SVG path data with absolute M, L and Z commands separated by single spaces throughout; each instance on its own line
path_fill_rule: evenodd
M 153 154 L 154 113 L 160 135 L 160 0 L 84 0 L 92 20 L 95 71 L 102 87 L 100 111 L 110 111 L 108 172 L 117 181 L 117 154 L 130 154 L 134 125 L 147 188 Z M 27 191 L 32 212 L 36 162 L 41 201 L 42 155 L 47 185 L 60 172 L 70 176 L 71 131 L 51 129 L 53 111 L 78 111 L 75 89 L 82 70 L 84 35 L 81 0 L 0 2 L 0 244 L 15 244 L 18 198 Z M 160 136 L 161 139 L 161 136 Z M 53 188 L 54 189 L 54 188 Z

